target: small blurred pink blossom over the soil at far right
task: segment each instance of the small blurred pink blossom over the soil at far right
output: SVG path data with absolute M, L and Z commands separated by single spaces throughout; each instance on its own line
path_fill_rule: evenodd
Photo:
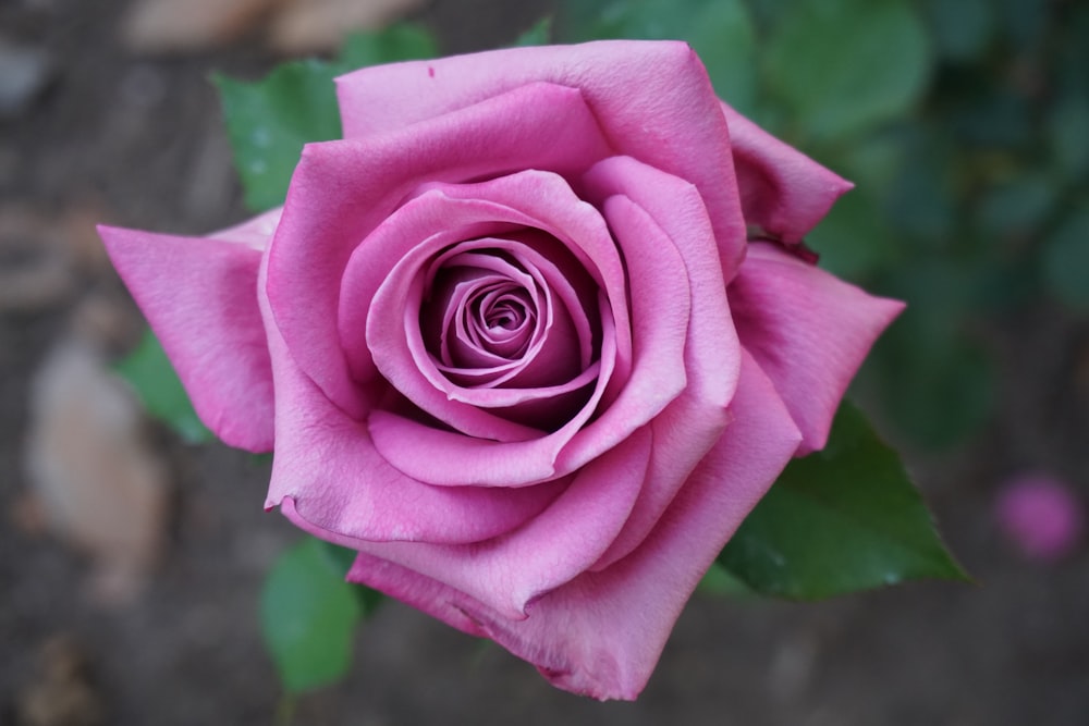
M 995 517 L 1006 537 L 1031 559 L 1060 559 L 1085 534 L 1081 502 L 1069 484 L 1045 473 L 1006 481 L 999 490 Z

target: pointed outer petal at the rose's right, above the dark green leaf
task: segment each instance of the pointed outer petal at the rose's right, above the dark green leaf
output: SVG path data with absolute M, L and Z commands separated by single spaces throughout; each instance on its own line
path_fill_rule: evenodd
M 805 436 L 798 455 L 823 448 L 851 379 L 904 304 L 872 297 L 764 243 L 749 245 L 729 293 L 742 345 Z

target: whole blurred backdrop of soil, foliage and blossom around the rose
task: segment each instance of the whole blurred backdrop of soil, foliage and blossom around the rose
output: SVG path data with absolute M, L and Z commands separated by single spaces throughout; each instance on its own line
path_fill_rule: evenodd
M 808 242 L 909 303 L 855 395 L 977 583 L 699 595 L 635 704 L 387 603 L 350 679 L 287 704 L 256 612 L 297 534 L 267 462 L 112 373 L 144 323 L 94 224 L 246 216 L 213 72 L 395 19 L 498 47 L 558 11 L 564 39 L 688 39 L 857 184 Z M 1089 4 L 0 0 L 0 411 L 2 724 L 1089 724 Z

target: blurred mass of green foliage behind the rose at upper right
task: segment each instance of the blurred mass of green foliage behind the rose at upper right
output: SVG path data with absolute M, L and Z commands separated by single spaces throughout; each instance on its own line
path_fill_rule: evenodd
M 1089 3 L 566 0 L 559 40 L 675 37 L 715 89 L 854 181 L 812 232 L 827 269 L 908 309 L 860 383 L 932 447 L 995 402 L 981 334 L 1089 315 Z

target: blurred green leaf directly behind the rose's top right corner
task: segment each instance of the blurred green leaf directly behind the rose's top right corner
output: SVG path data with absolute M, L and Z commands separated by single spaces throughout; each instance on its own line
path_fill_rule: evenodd
M 752 111 L 756 30 L 742 0 L 567 0 L 565 10 L 565 27 L 574 40 L 687 41 L 719 96 L 743 113 Z

